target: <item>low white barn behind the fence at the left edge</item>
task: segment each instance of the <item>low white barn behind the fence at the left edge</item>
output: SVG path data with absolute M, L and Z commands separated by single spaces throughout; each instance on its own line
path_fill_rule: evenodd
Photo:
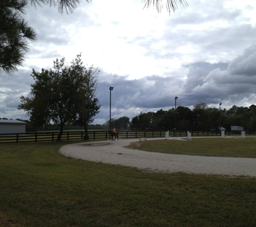
M 2 120 L 0 119 L 0 134 L 5 133 L 25 133 L 26 123 L 20 120 Z

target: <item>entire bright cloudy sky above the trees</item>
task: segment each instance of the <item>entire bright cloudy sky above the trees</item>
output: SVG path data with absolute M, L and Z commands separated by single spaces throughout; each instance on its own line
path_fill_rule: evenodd
M 164 0 L 163 0 L 164 1 Z M 99 67 L 96 97 L 101 105 L 94 124 L 112 117 L 198 103 L 229 109 L 256 104 L 256 1 L 187 0 L 170 14 L 140 0 L 92 0 L 72 14 L 27 8 L 37 31 L 24 67 L 0 74 L 0 117 L 29 119 L 18 110 L 29 96 L 32 68 L 52 68 L 82 53 L 85 65 Z

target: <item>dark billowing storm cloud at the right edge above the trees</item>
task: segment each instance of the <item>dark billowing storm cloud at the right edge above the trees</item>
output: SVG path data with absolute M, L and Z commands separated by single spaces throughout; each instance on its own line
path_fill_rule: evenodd
M 202 76 L 203 80 L 198 86 L 194 86 L 191 93 L 210 98 L 215 96 L 219 100 L 229 100 L 230 104 L 240 102 L 244 98 L 250 99 L 249 96 L 255 95 L 256 91 L 255 62 L 256 45 L 252 45 L 233 59 L 226 70 L 218 68 Z M 211 103 L 211 100 L 205 101 Z

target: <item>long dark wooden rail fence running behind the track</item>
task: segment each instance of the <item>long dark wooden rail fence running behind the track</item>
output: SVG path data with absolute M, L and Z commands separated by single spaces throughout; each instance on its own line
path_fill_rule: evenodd
M 0 134 L 0 143 L 36 143 L 45 141 L 56 141 L 59 132 L 27 132 L 27 133 L 6 133 Z M 240 131 L 225 131 L 226 136 L 239 135 Z M 107 131 L 89 131 L 90 140 L 108 139 L 109 134 Z M 66 131 L 63 132 L 61 140 L 83 140 L 85 136 L 84 131 Z M 119 131 L 121 139 L 134 139 L 134 138 L 154 138 L 165 137 L 165 131 Z M 186 131 L 169 132 L 169 137 L 186 137 Z M 204 132 L 204 131 L 191 131 L 193 136 L 221 136 L 221 132 Z

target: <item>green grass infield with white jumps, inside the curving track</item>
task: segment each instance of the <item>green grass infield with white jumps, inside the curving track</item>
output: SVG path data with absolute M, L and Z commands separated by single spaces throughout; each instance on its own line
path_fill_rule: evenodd
M 140 150 L 169 154 L 256 158 L 256 139 L 192 138 L 140 141 Z M 132 143 L 129 148 L 134 148 Z

